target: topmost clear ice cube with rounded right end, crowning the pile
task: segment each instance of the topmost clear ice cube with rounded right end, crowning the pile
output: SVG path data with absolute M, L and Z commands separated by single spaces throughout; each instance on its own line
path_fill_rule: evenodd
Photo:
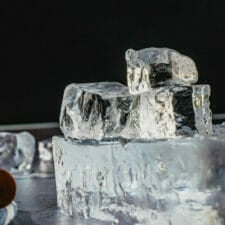
M 198 80 L 194 61 L 168 48 L 126 51 L 129 91 L 137 94 L 168 84 L 193 84 Z

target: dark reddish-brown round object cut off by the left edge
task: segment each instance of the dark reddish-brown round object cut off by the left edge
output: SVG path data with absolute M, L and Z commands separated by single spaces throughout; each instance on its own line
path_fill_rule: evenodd
M 0 169 L 0 208 L 9 205 L 16 195 L 16 182 L 11 174 Z

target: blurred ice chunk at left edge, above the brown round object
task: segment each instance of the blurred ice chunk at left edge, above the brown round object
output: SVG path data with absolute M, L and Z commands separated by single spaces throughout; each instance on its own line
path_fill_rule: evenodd
M 29 171 L 35 154 L 35 138 L 28 132 L 0 133 L 0 167 Z

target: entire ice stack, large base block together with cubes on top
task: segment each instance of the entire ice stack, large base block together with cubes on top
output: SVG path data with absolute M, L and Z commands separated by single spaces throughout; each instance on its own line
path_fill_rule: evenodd
M 126 61 L 128 87 L 65 89 L 64 137 L 53 137 L 58 206 L 90 224 L 222 225 L 225 142 L 175 139 L 212 134 L 210 87 L 193 85 L 195 63 L 171 49 L 128 50 Z

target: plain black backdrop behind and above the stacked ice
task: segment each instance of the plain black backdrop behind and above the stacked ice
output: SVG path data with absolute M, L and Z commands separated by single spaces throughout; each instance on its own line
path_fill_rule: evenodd
M 78 8 L 75 1 L 65 2 L 17 1 L 1 7 L 0 124 L 57 121 L 67 84 L 125 84 L 125 50 L 151 46 L 193 58 L 198 83 L 211 85 L 213 112 L 225 112 L 222 1 L 137 1 L 132 9 L 106 3 L 102 11 L 113 10 L 111 16 L 98 14 L 97 5 Z

